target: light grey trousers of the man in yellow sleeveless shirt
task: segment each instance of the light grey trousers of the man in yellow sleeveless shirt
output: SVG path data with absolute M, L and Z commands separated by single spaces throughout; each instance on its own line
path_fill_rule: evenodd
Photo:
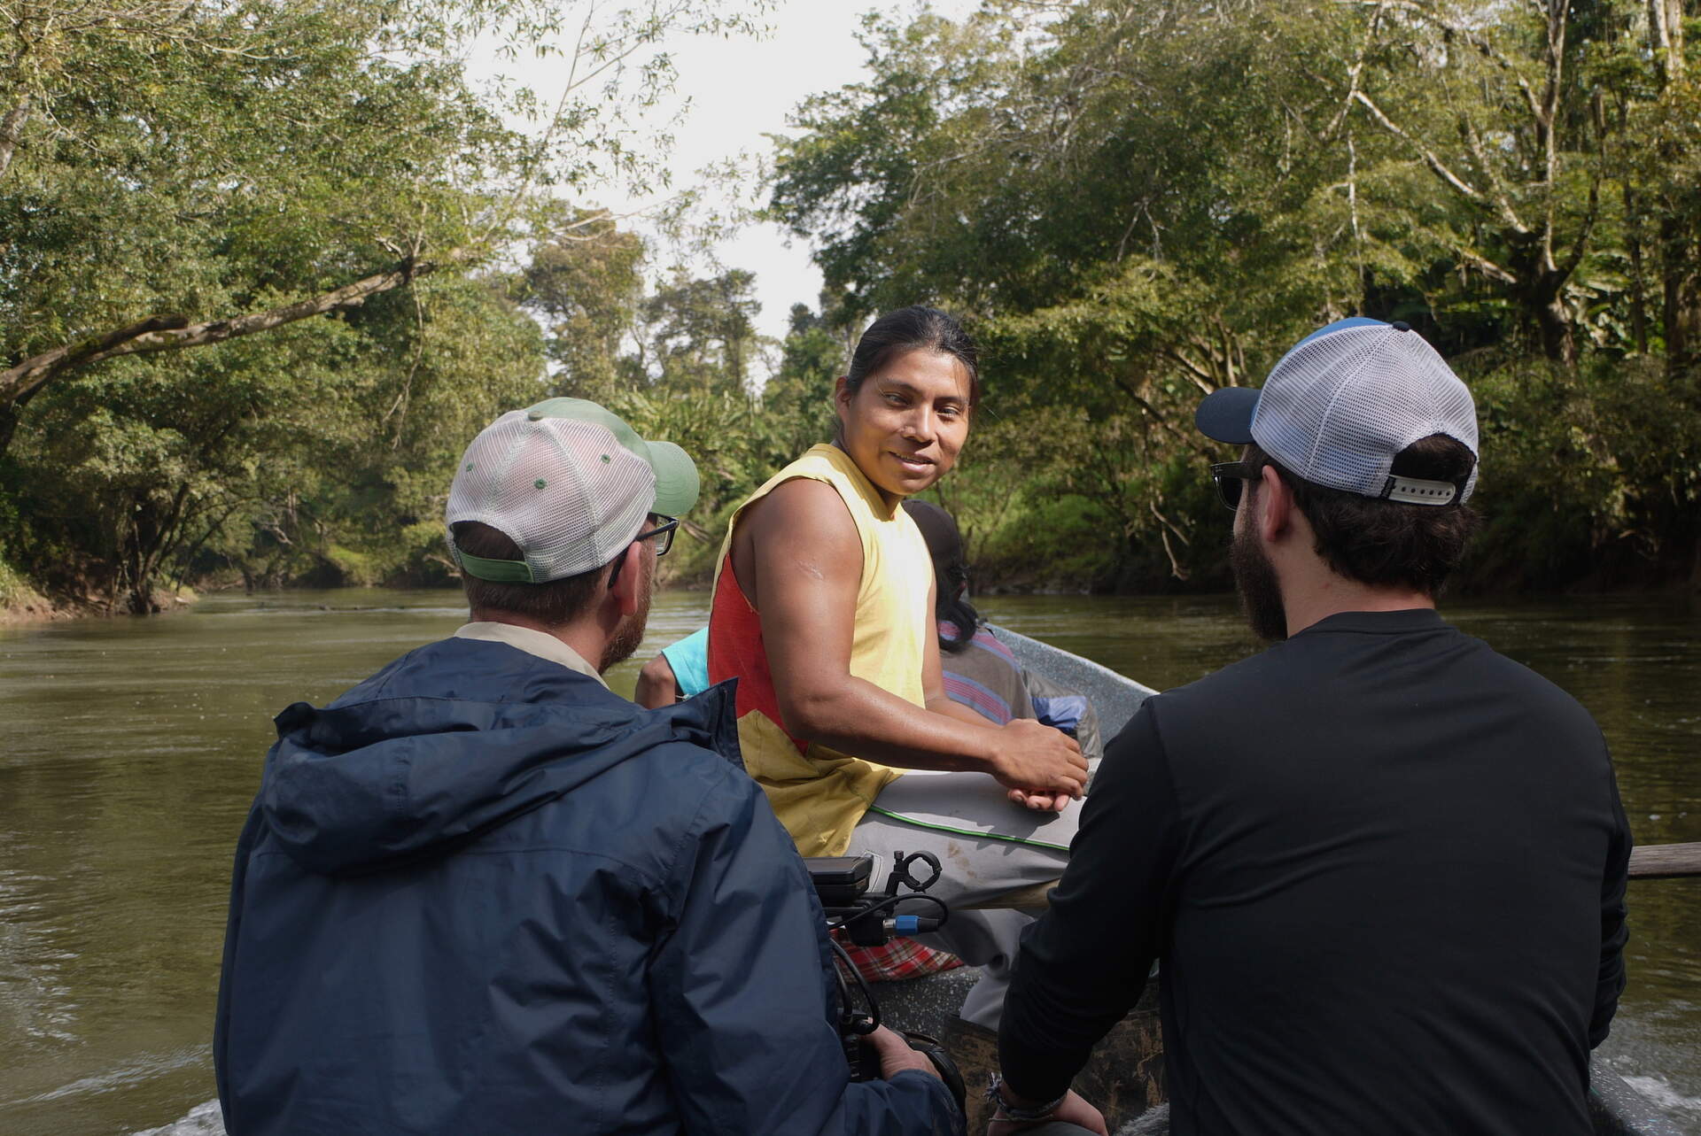
M 951 917 L 937 932 L 917 935 L 917 942 L 981 968 L 959 1014 L 975 1025 L 998 1029 L 1022 929 L 1036 913 L 970 912 L 963 905 L 987 903 L 1061 876 L 1078 820 L 1078 801 L 1063 813 L 1034 813 L 1010 804 L 1004 786 L 987 774 L 905 774 L 862 816 L 849 854 L 879 859 L 876 888 L 885 884 L 900 852 L 939 857 L 942 874 L 927 895 L 942 900 Z M 908 908 L 925 913 L 919 903 Z

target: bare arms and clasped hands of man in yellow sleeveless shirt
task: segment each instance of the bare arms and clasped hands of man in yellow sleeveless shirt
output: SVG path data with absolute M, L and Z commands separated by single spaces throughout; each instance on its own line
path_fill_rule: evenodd
M 1080 792 L 1085 760 L 1065 735 L 997 728 L 932 709 L 944 701 L 937 641 L 922 665 L 929 709 L 850 675 L 862 544 L 839 493 L 786 481 L 733 534 L 738 587 L 762 621 L 784 728 L 794 736 L 907 769 L 978 770 L 1009 787 Z

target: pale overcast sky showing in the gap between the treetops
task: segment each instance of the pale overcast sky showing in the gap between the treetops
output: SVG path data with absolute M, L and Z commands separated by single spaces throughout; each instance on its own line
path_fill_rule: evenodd
M 692 184 L 696 170 L 731 155 L 765 151 L 769 143 L 764 134 L 784 133 L 786 116 L 808 95 L 864 78 L 866 53 L 856 41 L 864 12 L 913 14 L 922 7 L 917 0 L 781 0 L 765 17 L 772 32 L 762 39 L 680 37 L 670 43 L 679 73 L 677 92 L 691 99 L 684 121 L 674 131 L 674 185 Z M 925 7 L 958 19 L 978 5 L 976 0 L 932 0 Z M 553 95 L 544 75 L 527 78 L 541 97 Z M 677 107 L 679 100 L 663 114 Z M 640 204 L 609 192 L 587 197 L 616 211 Z M 793 303 L 815 306 L 822 275 L 810 264 L 806 241 L 788 247 L 779 226 L 747 226 L 725 241 L 718 255 L 726 267 L 755 272 L 762 301 L 757 323 L 764 335 L 784 335 Z

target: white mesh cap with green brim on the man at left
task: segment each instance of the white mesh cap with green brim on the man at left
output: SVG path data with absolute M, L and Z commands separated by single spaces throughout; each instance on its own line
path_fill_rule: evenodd
M 548 583 L 600 568 L 650 514 L 680 517 L 697 503 L 697 466 L 672 442 L 638 437 L 582 398 L 510 410 L 461 456 L 449 486 L 449 556 L 495 583 Z M 454 525 L 478 520 L 514 541 L 524 559 L 485 559 L 454 546 Z

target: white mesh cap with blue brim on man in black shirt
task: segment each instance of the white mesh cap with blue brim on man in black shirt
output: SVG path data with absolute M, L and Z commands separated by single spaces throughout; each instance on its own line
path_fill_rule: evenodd
M 1259 447 L 1293 474 L 1408 505 L 1448 505 L 1449 481 L 1395 476 L 1407 446 L 1446 434 L 1476 456 L 1476 403 L 1422 335 L 1354 316 L 1311 332 L 1281 357 L 1262 389 L 1213 391 L 1194 415 L 1218 442 Z

